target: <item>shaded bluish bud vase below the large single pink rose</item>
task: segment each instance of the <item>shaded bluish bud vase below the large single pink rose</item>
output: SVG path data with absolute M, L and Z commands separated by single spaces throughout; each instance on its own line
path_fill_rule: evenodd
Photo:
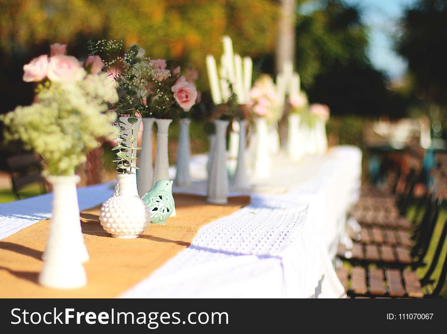
M 179 187 L 186 187 L 191 184 L 191 175 L 189 173 L 190 143 L 189 143 L 189 124 L 188 118 L 180 119 L 180 135 L 177 150 L 177 169 L 175 175 L 175 184 Z

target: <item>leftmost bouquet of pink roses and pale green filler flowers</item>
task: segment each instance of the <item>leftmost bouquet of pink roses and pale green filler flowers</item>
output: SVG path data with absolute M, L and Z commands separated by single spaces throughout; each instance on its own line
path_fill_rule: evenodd
M 20 139 L 45 160 L 52 175 L 73 175 L 98 138 L 114 132 L 118 101 L 115 85 L 102 73 L 102 62 L 82 64 L 66 54 L 67 46 L 53 44 L 51 54 L 23 66 L 23 80 L 38 82 L 36 102 L 18 106 L 4 116 L 5 139 Z

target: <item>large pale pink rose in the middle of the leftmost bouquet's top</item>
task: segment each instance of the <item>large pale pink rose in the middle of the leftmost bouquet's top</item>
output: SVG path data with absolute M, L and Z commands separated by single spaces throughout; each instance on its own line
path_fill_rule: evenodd
M 48 79 L 51 81 L 72 82 L 79 81 L 85 75 L 82 64 L 78 59 L 67 55 L 50 57 L 48 64 Z

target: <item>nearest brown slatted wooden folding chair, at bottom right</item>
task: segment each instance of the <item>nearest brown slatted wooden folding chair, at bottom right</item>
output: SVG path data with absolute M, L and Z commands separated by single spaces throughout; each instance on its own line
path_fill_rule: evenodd
M 447 277 L 447 257 L 441 252 L 447 235 L 447 221 L 440 235 L 431 264 L 421 280 L 416 271 L 381 266 L 355 266 L 352 269 L 336 269 L 337 275 L 350 297 L 439 297 Z M 431 275 L 443 261 L 437 282 Z M 424 290 L 426 292 L 424 292 Z

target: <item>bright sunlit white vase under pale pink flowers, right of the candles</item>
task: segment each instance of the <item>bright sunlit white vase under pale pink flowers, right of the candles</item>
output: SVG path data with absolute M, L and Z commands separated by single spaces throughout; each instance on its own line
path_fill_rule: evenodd
M 271 156 L 269 150 L 269 133 L 267 119 L 258 117 L 255 120 L 256 146 L 254 151 L 254 177 L 268 178 L 271 174 Z

